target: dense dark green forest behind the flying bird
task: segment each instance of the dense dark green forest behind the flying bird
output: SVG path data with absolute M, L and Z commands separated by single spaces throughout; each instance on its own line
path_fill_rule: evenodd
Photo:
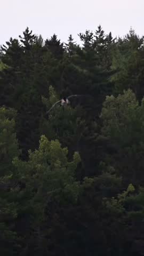
M 21 34 L 0 50 L 1 255 L 144 255 L 144 36 Z

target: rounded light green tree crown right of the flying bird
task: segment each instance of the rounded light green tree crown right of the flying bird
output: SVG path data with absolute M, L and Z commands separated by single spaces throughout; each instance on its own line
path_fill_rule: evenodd
M 139 103 L 130 89 L 124 91 L 124 94 L 118 95 L 117 98 L 113 95 L 107 96 L 101 112 L 101 118 L 103 119 L 102 133 L 115 140 L 118 138 L 121 143 L 126 143 L 126 141 L 130 143 L 131 140 L 133 141 L 132 136 L 137 134 L 135 130 L 134 134 L 130 130 L 138 129 L 138 127 L 141 129 L 141 125 L 138 125 L 140 119 L 142 119 L 139 109 Z M 137 124 L 137 127 L 134 123 Z

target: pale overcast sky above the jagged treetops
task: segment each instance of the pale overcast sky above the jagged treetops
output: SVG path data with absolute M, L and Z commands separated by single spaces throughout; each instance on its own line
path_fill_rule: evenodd
M 123 36 L 130 27 L 144 34 L 144 0 L 0 0 L 0 44 L 18 38 L 28 26 L 44 39 L 54 33 L 62 42 L 69 34 L 101 25 L 106 33 Z

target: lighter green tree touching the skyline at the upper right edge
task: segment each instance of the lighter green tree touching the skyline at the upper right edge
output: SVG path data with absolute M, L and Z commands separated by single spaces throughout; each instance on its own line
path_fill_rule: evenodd
M 139 100 L 143 97 L 143 36 L 130 30 L 124 39 L 119 38 L 113 52 L 112 68 L 117 70 L 112 77 L 115 92 L 132 89 Z

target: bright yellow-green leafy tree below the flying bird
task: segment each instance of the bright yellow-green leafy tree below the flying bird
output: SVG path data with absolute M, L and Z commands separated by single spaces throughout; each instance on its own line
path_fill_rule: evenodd
M 81 158 L 75 153 L 73 161 L 69 162 L 67 154 L 68 149 L 61 148 L 58 140 L 49 141 L 43 135 L 38 150 L 29 151 L 28 162 L 22 162 L 18 158 L 13 161 L 21 181 L 26 183 L 18 198 L 19 214 L 26 214 L 29 219 L 24 240 L 29 248 L 33 242 L 38 241 L 38 244 L 41 244 L 41 238 L 36 232 L 37 228 L 42 229 L 44 223 L 46 225 L 46 208 L 49 201 L 57 202 L 61 207 L 77 203 L 81 185 L 75 180 L 75 170 Z M 24 198 L 27 198 L 27 201 L 23 201 Z M 49 209 L 49 214 L 51 211 L 52 209 Z M 29 236 L 30 230 L 33 231 Z M 49 229 L 45 231 L 47 233 Z M 20 234 L 22 236 L 22 233 Z M 35 250 L 38 252 L 38 248 Z M 43 250 L 41 247 L 41 251 Z

